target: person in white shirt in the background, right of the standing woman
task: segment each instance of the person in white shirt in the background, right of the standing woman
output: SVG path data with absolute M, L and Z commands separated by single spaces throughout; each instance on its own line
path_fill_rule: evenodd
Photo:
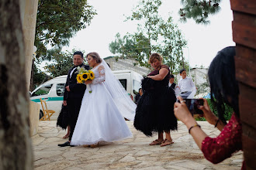
M 182 98 L 192 98 L 195 96 L 196 88 L 192 78 L 187 77 L 185 69 L 180 71 L 182 79 L 178 80 L 178 88 L 180 89 L 180 95 Z

